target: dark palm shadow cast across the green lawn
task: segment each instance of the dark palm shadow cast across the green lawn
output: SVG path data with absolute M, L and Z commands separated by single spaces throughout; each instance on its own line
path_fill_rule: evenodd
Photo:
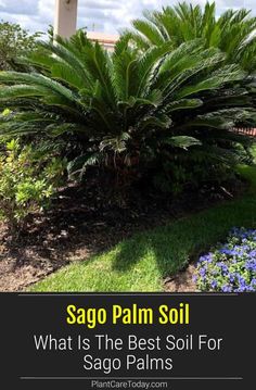
M 149 264 L 155 261 L 162 277 L 165 277 L 182 269 L 210 246 L 223 240 L 234 226 L 256 226 L 255 196 L 223 203 L 119 243 L 112 268 L 127 273 L 138 263 L 146 263 L 148 259 Z

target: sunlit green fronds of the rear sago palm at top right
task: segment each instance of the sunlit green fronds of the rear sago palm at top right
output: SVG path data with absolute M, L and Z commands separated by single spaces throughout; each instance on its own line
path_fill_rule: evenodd
M 239 63 L 247 71 L 256 67 L 256 17 L 248 10 L 228 10 L 218 17 L 215 2 L 207 2 L 204 9 L 181 2 L 162 11 L 145 11 L 144 18 L 133 21 L 132 25 L 135 29 L 125 35 L 142 50 L 166 41 L 178 48 L 203 38 L 205 48 L 226 52 L 227 62 Z

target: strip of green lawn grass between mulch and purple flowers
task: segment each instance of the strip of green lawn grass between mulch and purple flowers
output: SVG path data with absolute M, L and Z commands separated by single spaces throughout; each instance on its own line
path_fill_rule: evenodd
M 256 167 L 239 169 L 252 185 L 243 198 L 137 234 L 110 252 L 62 268 L 30 291 L 162 291 L 165 276 L 223 240 L 230 228 L 256 226 Z

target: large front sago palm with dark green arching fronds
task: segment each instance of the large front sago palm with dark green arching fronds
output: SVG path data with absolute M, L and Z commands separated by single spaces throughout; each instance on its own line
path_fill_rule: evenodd
M 0 134 L 72 140 L 79 152 L 69 176 L 98 165 L 127 186 L 195 160 L 209 172 L 236 163 L 247 142 L 230 131 L 255 115 L 246 73 L 203 40 L 140 52 L 124 37 L 112 54 L 79 32 L 41 42 L 23 62 L 34 71 L 0 73 L 0 104 L 10 109 Z

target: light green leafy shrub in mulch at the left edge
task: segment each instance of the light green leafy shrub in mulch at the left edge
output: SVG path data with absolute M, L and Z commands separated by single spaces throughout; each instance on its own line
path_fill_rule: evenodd
M 43 156 L 35 146 L 21 147 L 14 139 L 1 146 L 0 218 L 12 234 L 26 225 L 29 214 L 49 206 L 64 169 L 65 162 Z

